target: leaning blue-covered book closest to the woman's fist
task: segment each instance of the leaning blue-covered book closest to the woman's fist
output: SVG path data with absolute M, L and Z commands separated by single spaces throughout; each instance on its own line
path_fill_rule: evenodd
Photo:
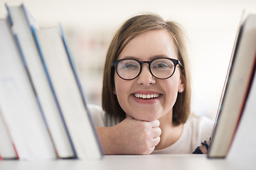
M 34 36 L 78 159 L 102 157 L 100 142 L 62 28 L 41 28 L 34 30 Z

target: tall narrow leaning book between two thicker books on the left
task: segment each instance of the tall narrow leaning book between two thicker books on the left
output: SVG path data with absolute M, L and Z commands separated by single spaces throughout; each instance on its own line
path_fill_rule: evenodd
M 21 6 L 7 6 L 7 8 L 9 8 L 14 33 L 18 36 L 18 42 L 23 52 L 23 60 L 26 62 L 24 64 L 28 67 L 28 74 L 38 96 L 38 104 L 41 107 L 42 117 L 48 128 L 56 155 L 59 158 L 76 157 L 73 143 L 70 140 L 50 84 L 48 84 L 36 41 L 33 38 L 32 30 L 39 29 L 36 19 L 23 4 Z

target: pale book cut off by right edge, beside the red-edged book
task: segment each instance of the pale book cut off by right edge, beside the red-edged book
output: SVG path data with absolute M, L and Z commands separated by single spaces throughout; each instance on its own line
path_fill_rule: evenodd
M 255 54 L 256 57 L 256 54 Z M 256 69 L 255 69 L 256 71 Z M 250 159 L 255 158 L 256 147 L 256 74 L 254 76 L 250 91 L 245 103 L 245 108 L 240 118 L 238 130 L 235 132 L 233 143 L 228 152 L 229 159 Z

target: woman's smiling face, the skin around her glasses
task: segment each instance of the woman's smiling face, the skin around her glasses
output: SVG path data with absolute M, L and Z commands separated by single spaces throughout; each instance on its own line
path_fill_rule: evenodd
M 156 57 L 178 60 L 176 46 L 165 29 L 149 30 L 133 38 L 124 47 L 118 60 L 134 58 L 149 61 Z M 166 114 L 171 116 L 178 92 L 183 92 L 185 87 L 178 67 L 169 79 L 156 79 L 149 72 L 148 64 L 143 64 L 139 77 L 132 80 L 121 79 L 115 72 L 114 86 L 114 93 L 124 112 L 132 118 L 145 121 L 156 120 Z M 153 94 L 156 98 L 138 98 L 139 94 Z

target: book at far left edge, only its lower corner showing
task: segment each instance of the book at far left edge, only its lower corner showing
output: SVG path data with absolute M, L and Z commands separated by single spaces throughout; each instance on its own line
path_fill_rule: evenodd
M 0 27 L 1 26 L 2 26 L 2 20 L 0 19 Z M 8 126 L 6 125 L 4 115 L 1 112 L 2 111 L 0 106 L 0 139 L 1 139 L 0 154 L 1 154 L 1 157 L 2 159 L 18 159 L 16 147 L 14 145 L 13 140 L 11 139 L 11 135 L 9 133 Z

